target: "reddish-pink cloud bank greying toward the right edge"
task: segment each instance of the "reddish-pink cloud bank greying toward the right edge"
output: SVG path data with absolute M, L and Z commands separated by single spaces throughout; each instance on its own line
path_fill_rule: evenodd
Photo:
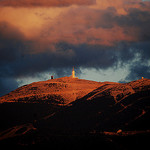
M 47 22 L 40 36 L 55 43 L 64 41 L 71 44 L 115 46 L 122 41 L 150 40 L 149 26 L 150 12 L 147 10 L 130 8 L 121 15 L 115 7 L 79 7 L 62 13 L 53 23 Z

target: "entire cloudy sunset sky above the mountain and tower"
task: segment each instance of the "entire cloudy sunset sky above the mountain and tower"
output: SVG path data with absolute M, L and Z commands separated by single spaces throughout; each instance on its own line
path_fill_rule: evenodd
M 70 76 L 150 78 L 149 0 L 0 0 L 0 96 Z

